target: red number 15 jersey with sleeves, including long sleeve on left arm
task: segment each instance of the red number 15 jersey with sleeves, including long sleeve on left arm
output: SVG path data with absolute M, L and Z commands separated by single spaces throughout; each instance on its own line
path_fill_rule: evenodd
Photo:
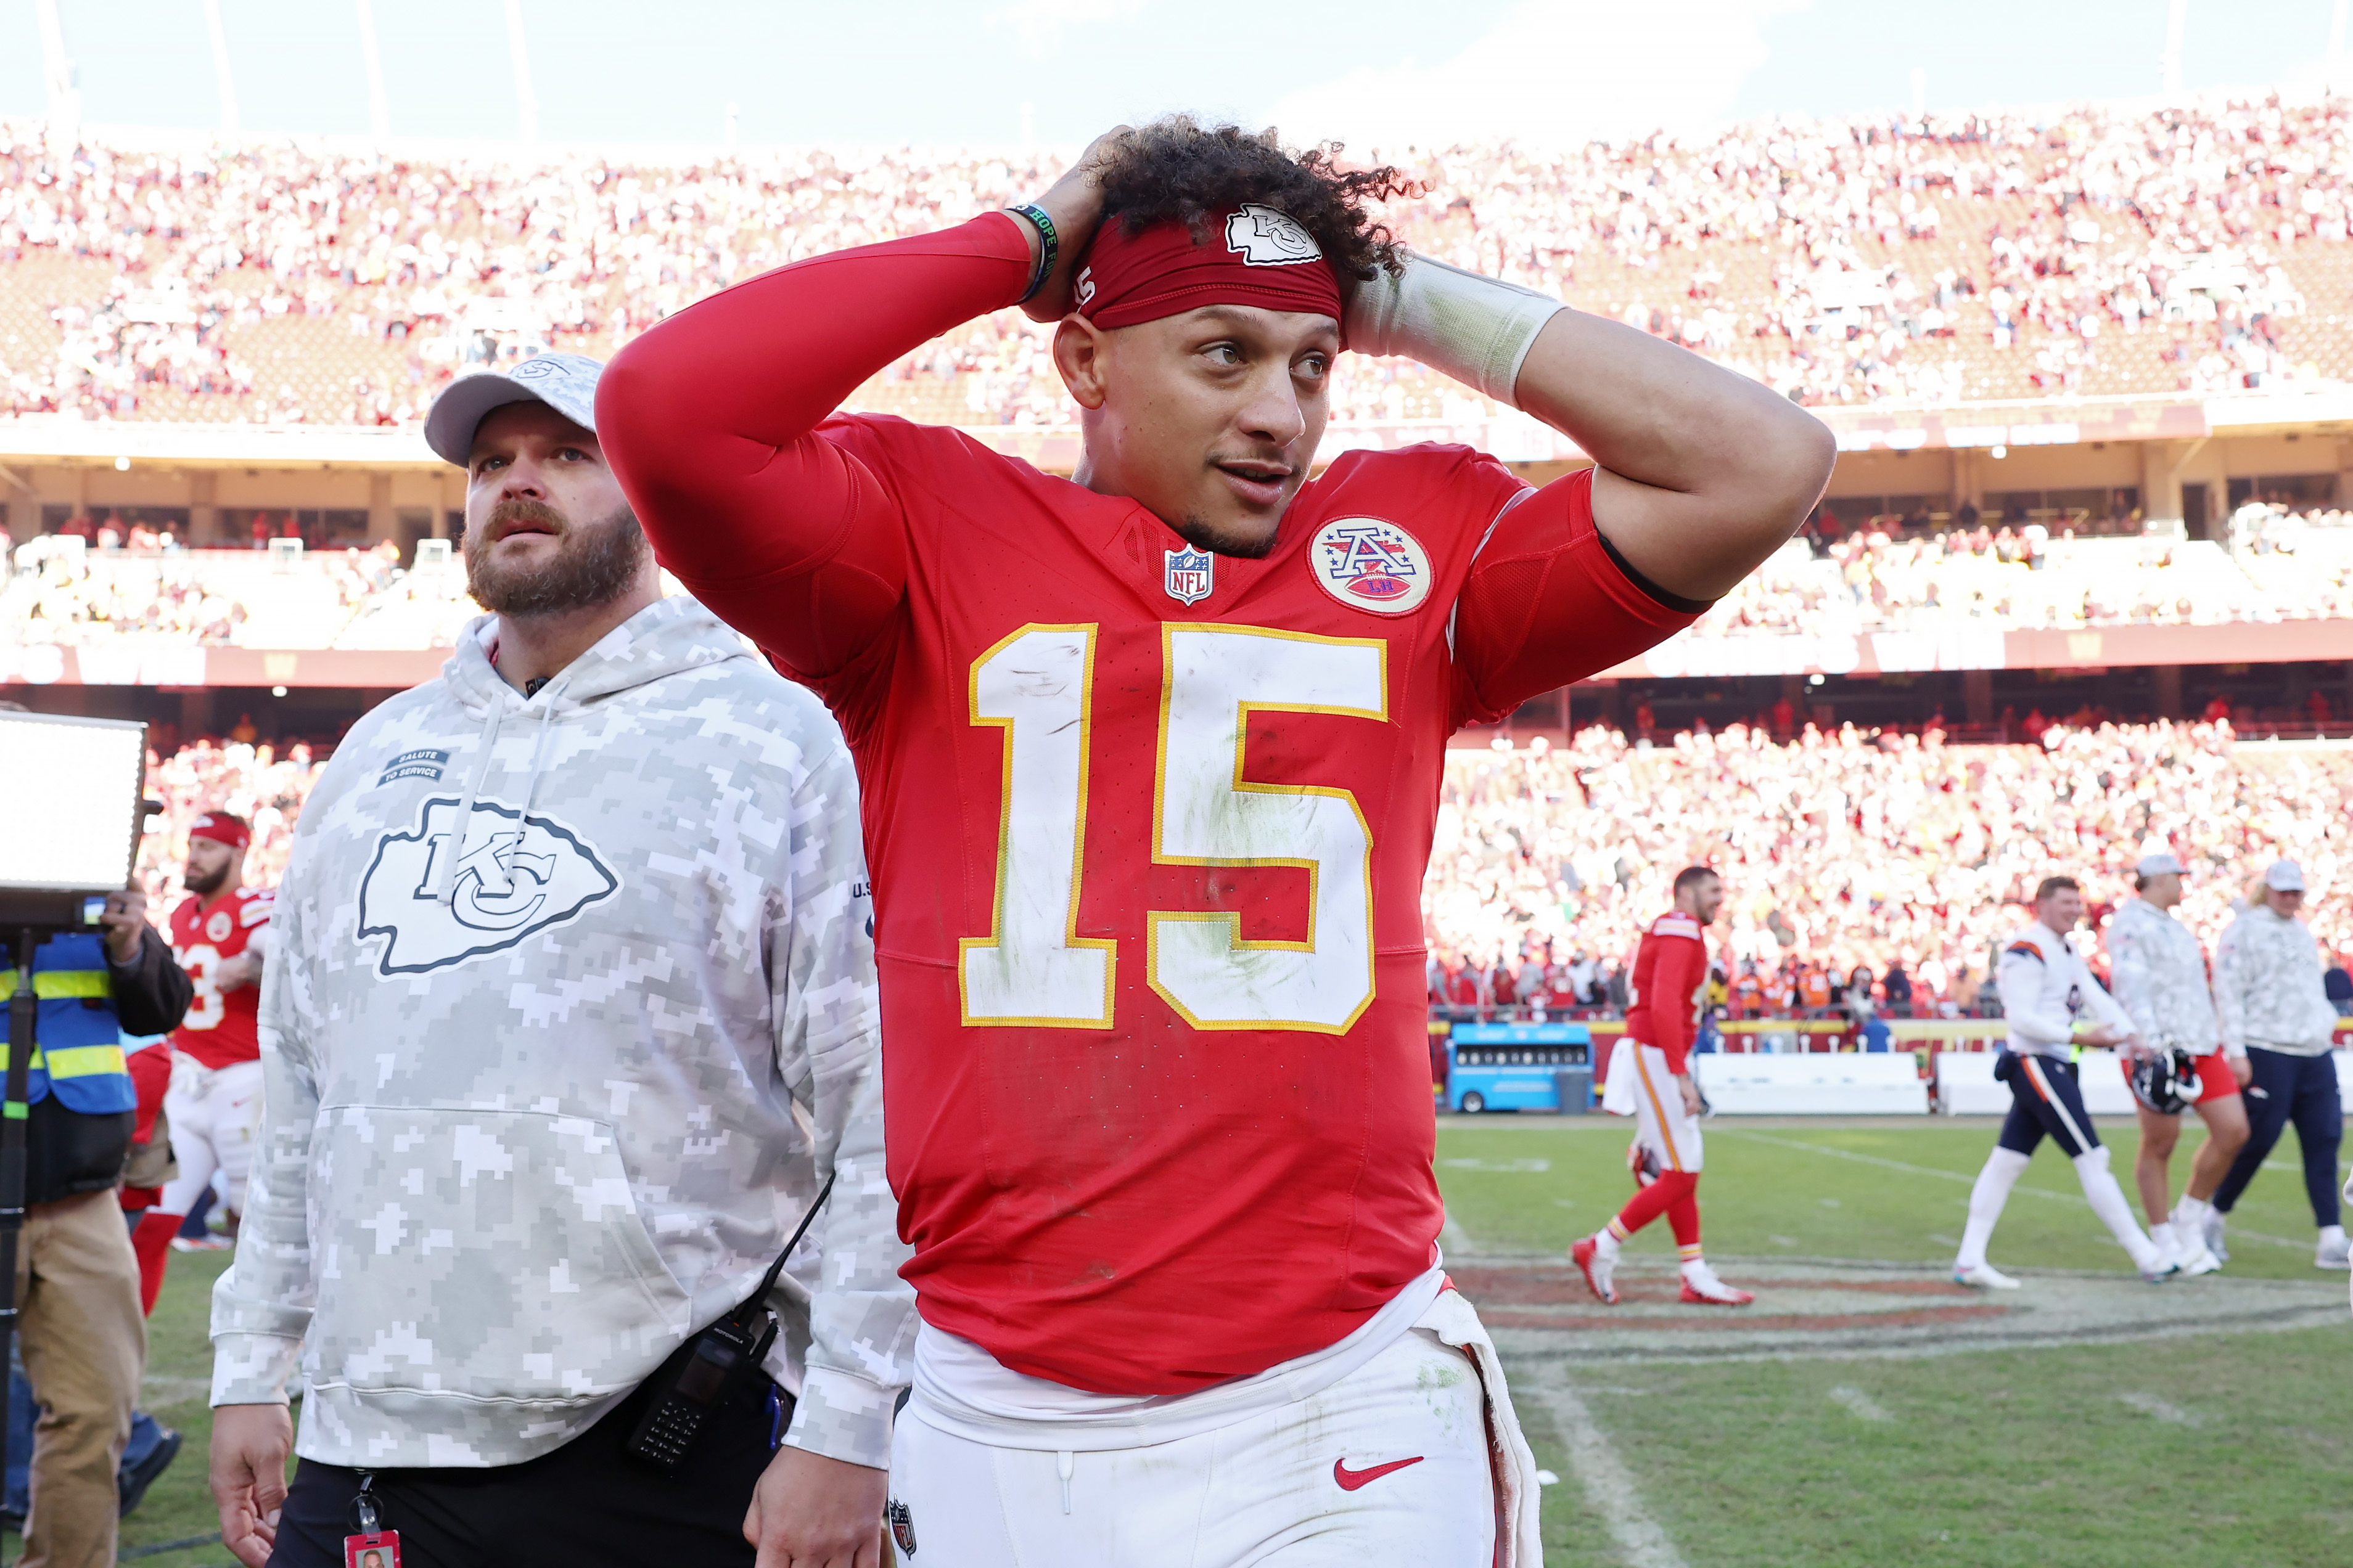
M 826 414 L 1012 303 L 1016 221 L 821 256 L 605 371 L 664 564 L 833 708 L 927 1324 L 1101 1394 L 1322 1349 L 1431 1267 L 1421 877 L 1447 736 L 1689 623 L 1591 480 L 1344 454 L 1264 559 Z

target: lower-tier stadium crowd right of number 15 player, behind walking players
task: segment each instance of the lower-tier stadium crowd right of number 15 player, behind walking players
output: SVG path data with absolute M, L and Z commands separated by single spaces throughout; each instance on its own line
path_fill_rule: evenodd
M 1454 752 L 1424 889 L 1431 990 L 1607 1006 L 1692 863 L 1725 877 L 1734 1011 L 1821 1013 L 1857 971 L 1878 1004 L 1969 1011 L 2042 877 L 2085 879 L 2099 929 L 2148 849 L 2191 867 L 2179 914 L 2209 950 L 2280 856 L 2306 867 L 2337 950 L 2353 940 L 2332 898 L 2348 802 L 2353 755 L 2259 752 L 2226 722 L 2049 726 L 2026 745 L 1852 726 L 1777 743 L 1746 724 L 1647 745 L 1591 726 L 1567 748 Z

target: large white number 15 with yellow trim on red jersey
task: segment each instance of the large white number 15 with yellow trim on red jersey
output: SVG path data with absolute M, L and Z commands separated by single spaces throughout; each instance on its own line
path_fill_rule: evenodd
M 1151 910 L 1146 980 L 1198 1030 L 1344 1034 L 1372 1004 L 1372 827 L 1348 790 L 1245 783 L 1242 736 L 1254 712 L 1386 719 L 1388 644 L 1169 623 L 1160 654 L 1153 863 L 1301 867 L 1308 933 L 1245 943 L 1228 910 Z M 1005 785 L 995 922 L 958 954 L 967 1025 L 1111 1027 L 1120 943 L 1078 936 L 1094 663 L 1094 625 L 1026 625 L 972 663 Z

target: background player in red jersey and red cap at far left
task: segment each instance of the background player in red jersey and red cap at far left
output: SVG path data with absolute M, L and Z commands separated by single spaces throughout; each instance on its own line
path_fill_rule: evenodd
M 228 1234 L 245 1208 L 245 1171 L 261 1119 L 261 964 L 268 952 L 275 893 L 245 886 L 252 827 L 207 811 L 188 827 L 188 896 L 172 910 L 172 957 L 188 971 L 195 1001 L 172 1032 L 172 1088 L 162 1114 L 172 1128 L 179 1175 L 139 1220 L 132 1246 L 141 1286 L 162 1284 L 165 1260 L 195 1197 L 221 1178 Z

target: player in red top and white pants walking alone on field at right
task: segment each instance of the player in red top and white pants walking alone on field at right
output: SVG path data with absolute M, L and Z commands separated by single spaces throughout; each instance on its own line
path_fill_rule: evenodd
M 1569 1248 L 1593 1293 L 1617 1305 L 1619 1248 L 1661 1213 L 1675 1229 L 1682 1255 L 1682 1300 L 1706 1307 L 1746 1307 L 1755 1300 L 1734 1291 L 1699 1255 L 1699 1084 L 1692 1081 L 1692 1046 L 1708 992 L 1708 926 L 1725 903 L 1725 884 L 1706 865 L 1675 875 L 1675 907 L 1649 924 L 1633 954 L 1633 994 L 1626 1039 L 1635 1074 L 1635 1192 L 1607 1227 Z M 1612 1063 L 1614 1065 L 1614 1063 Z M 1647 1180 L 1645 1180 L 1647 1178 Z

